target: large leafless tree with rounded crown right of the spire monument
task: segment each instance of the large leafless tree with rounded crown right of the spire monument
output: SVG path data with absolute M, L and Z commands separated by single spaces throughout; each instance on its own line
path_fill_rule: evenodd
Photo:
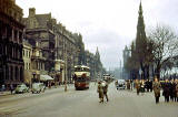
M 165 25 L 157 25 L 149 33 L 149 39 L 154 41 L 154 63 L 156 75 L 160 78 L 160 70 L 164 63 L 172 59 L 178 52 L 178 40 L 176 33 Z

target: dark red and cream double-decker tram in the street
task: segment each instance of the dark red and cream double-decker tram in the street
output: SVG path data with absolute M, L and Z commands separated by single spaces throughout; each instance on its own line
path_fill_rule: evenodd
M 76 89 L 87 89 L 90 83 L 90 68 L 85 65 L 75 66 L 75 87 Z

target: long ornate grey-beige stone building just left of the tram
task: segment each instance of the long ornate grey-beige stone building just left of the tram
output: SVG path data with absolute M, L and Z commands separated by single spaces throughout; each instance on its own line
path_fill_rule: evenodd
M 68 31 L 61 23 L 56 23 L 56 60 L 63 62 L 60 67 L 60 72 L 65 74 L 63 82 L 72 79 L 73 67 L 78 63 L 78 46 L 76 44 L 76 35 Z

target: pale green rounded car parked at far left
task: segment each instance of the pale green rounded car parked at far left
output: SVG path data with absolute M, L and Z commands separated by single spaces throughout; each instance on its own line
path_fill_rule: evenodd
M 19 94 L 19 93 L 27 93 L 29 92 L 29 87 L 26 86 L 26 84 L 20 84 L 16 87 L 14 93 Z

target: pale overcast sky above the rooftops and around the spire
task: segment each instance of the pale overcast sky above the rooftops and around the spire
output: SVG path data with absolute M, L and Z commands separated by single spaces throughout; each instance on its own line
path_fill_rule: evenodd
M 86 50 L 96 53 L 107 70 L 119 67 L 122 50 L 136 38 L 140 0 L 17 0 L 24 17 L 29 8 L 49 13 L 71 32 L 80 32 Z M 178 0 L 142 0 L 146 30 L 158 23 L 178 32 Z

